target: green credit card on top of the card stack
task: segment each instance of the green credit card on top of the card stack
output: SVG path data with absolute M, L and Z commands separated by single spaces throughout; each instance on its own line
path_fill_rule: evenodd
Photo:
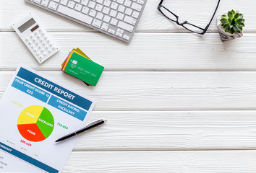
M 72 53 L 64 72 L 85 81 L 88 84 L 96 86 L 100 79 L 104 67 L 90 61 L 88 58 Z

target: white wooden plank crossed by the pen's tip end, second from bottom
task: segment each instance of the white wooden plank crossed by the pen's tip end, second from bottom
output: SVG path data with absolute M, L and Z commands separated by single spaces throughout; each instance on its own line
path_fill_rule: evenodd
M 256 111 L 93 111 L 74 151 L 255 149 Z

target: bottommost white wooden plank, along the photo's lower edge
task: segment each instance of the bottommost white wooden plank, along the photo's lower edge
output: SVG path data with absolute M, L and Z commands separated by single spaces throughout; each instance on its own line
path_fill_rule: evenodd
M 64 173 L 255 173 L 255 151 L 73 152 Z

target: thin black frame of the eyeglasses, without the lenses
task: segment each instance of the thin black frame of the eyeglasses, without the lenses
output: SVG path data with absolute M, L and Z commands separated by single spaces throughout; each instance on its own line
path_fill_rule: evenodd
M 216 12 L 217 12 L 217 9 L 218 9 L 218 6 L 219 6 L 219 4 L 220 4 L 220 2 L 221 2 L 221 0 L 218 0 L 218 4 L 217 4 L 216 9 L 215 9 L 215 11 L 214 11 L 214 13 L 213 13 L 213 17 L 210 19 L 210 22 L 209 22 L 208 25 L 205 27 L 205 29 L 203 29 L 202 27 L 198 27 L 197 25 L 193 25 L 193 24 L 187 22 L 187 20 L 185 20 L 185 21 L 182 22 L 182 23 L 179 23 L 179 16 L 177 16 L 176 14 L 174 14 L 173 12 L 171 12 L 169 9 L 167 9 L 165 6 L 163 6 L 163 5 L 162 5 L 162 4 L 163 4 L 163 1 L 164 1 L 164 0 L 161 0 L 160 3 L 158 4 L 158 10 L 159 10 L 159 12 L 161 12 L 161 14 L 163 14 L 163 16 L 165 16 L 166 18 L 170 19 L 172 22 L 176 22 L 176 24 L 179 25 L 179 26 L 184 27 L 184 25 L 187 24 L 187 25 L 192 25 L 193 27 L 199 28 L 200 30 L 202 30 L 202 32 L 195 32 L 195 31 L 193 31 L 193 30 L 189 30 L 187 27 L 184 27 L 186 30 L 189 30 L 190 32 L 194 32 L 194 33 L 197 33 L 197 34 L 200 34 L 200 35 L 204 35 L 205 32 L 208 30 L 208 27 L 210 26 L 210 23 L 213 21 L 213 17 L 215 16 L 215 14 L 216 14 Z M 175 21 L 174 19 L 171 19 L 171 18 L 167 17 L 166 14 L 164 14 L 164 13 L 162 12 L 161 7 L 163 7 L 163 8 L 166 9 L 168 12 L 170 12 L 171 14 L 173 14 L 174 17 L 176 17 L 176 21 Z

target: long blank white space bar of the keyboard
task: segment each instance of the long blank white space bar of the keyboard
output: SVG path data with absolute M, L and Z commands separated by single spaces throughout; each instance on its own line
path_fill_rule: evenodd
M 69 17 L 74 18 L 74 19 L 78 19 L 78 20 L 80 20 L 82 22 L 87 23 L 88 25 L 90 25 L 92 23 L 92 21 L 93 21 L 93 17 L 88 17 L 87 15 L 82 14 L 80 12 L 76 12 L 76 11 L 74 11 L 74 9 L 69 9 L 66 6 L 59 5 L 59 9 L 57 10 L 57 12 L 65 14 L 65 15 L 67 15 Z

